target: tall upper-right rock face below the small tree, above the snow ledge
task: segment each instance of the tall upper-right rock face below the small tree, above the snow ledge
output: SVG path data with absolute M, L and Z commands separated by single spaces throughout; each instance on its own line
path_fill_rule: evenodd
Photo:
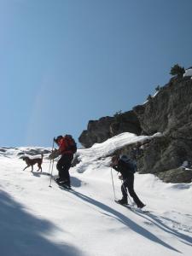
M 192 80 L 172 79 L 159 93 L 142 106 L 133 108 L 143 133 L 152 135 L 157 131 L 176 133 L 191 131 Z M 175 133 L 175 134 L 176 134 Z M 192 137 L 192 134 L 190 135 Z

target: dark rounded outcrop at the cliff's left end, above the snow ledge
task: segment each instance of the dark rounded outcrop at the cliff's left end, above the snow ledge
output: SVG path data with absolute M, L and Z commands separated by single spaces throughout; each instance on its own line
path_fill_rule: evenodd
M 133 111 L 119 114 L 116 118 L 107 116 L 90 120 L 87 130 L 84 130 L 79 137 L 79 143 L 85 148 L 90 148 L 94 143 L 103 143 L 108 138 L 125 131 L 141 134 L 139 120 Z

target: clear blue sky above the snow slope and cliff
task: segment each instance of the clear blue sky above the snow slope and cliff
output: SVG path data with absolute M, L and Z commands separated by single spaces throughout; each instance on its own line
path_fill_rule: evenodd
M 191 0 L 0 0 L 0 146 L 77 140 L 192 66 Z

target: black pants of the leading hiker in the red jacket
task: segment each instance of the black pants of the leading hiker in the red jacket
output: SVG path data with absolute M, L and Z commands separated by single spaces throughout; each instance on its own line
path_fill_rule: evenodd
M 58 160 L 56 169 L 59 171 L 59 177 L 61 181 L 65 181 L 70 185 L 69 169 L 73 160 L 73 154 L 63 154 L 61 159 Z

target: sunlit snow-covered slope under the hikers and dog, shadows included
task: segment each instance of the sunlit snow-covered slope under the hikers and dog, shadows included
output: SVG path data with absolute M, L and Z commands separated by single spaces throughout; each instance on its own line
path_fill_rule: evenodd
M 135 190 L 150 212 L 131 211 L 114 202 L 111 173 L 117 198 L 121 182 L 108 167 L 108 154 L 145 138 L 124 133 L 79 149 L 81 162 L 70 171 L 72 192 L 55 182 L 49 187 L 46 156 L 42 173 L 22 171 L 26 164 L 17 155 L 20 148 L 0 150 L 1 255 L 190 255 L 192 183 L 167 184 L 137 173 Z M 55 166 L 53 173 L 57 174 Z

